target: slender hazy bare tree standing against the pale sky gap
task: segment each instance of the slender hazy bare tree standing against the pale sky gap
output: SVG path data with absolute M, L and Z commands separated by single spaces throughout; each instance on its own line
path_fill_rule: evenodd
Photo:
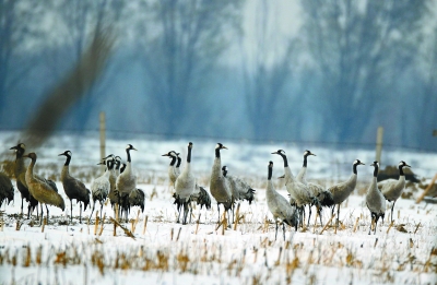
M 258 3 L 253 14 L 255 43 L 249 40 L 250 44 L 245 45 L 240 41 L 247 114 L 253 139 L 290 139 L 290 131 L 299 118 L 290 111 L 296 97 L 293 94 L 286 96 L 284 86 L 292 75 L 296 45 L 277 32 L 281 23 L 275 9 L 279 5 L 267 0 Z

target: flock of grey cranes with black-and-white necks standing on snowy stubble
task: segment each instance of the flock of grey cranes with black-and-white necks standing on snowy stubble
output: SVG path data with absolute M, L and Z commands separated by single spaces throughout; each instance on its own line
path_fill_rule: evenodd
M 40 221 L 43 223 L 43 204 L 46 206 L 47 219 L 49 215 L 48 205 L 57 206 L 64 211 L 66 203 L 59 194 L 56 183 L 52 180 L 43 178 L 34 173 L 34 167 L 37 161 L 35 153 L 25 154 L 24 143 L 11 147 L 15 151 L 14 176 L 16 180 L 16 188 L 19 189 L 22 198 L 21 212 L 23 214 L 23 202 L 28 202 L 27 218 L 36 209 L 38 218 L 38 203 L 40 204 Z M 246 181 L 228 174 L 228 168 L 224 165 L 222 167 L 221 151 L 227 150 L 222 143 L 215 146 L 215 157 L 212 166 L 210 177 L 210 192 L 202 186 L 199 186 L 191 169 L 191 154 L 193 144 L 188 143 L 188 152 L 184 169 L 180 170 L 181 157 L 179 153 L 170 151 L 162 156 L 169 157 L 170 164 L 168 166 L 168 178 L 174 185 L 174 203 L 177 205 L 178 217 L 177 223 L 180 222 L 180 214 L 182 213 L 181 223 L 191 223 L 192 203 L 197 203 L 202 209 L 211 209 L 211 195 L 217 203 L 218 222 L 221 221 L 220 205 L 222 204 L 225 211 L 227 225 L 231 225 L 231 213 L 233 223 L 234 209 L 236 203 L 246 200 L 249 204 L 253 201 L 256 190 L 252 189 Z M 98 201 L 101 205 L 101 216 L 103 205 L 106 200 L 109 200 L 115 216 L 117 213 L 122 218 L 125 215 L 126 222 L 131 206 L 140 206 L 144 211 L 144 192 L 137 188 L 137 176 L 132 169 L 131 151 L 137 151 L 131 144 L 126 146 L 127 162 L 121 163 L 121 157 L 113 154 L 105 157 L 99 164 L 106 166 L 105 173 L 95 178 L 91 183 L 91 190 L 80 181 L 72 177 L 69 173 L 69 166 L 72 158 L 72 153 L 66 151 L 60 156 L 66 156 L 66 163 L 61 171 L 61 182 L 67 198 L 70 200 L 70 222 L 72 222 L 72 200 L 80 203 L 80 223 L 82 223 L 82 204 L 83 211 L 90 204 L 90 199 L 93 199 L 92 212 L 95 210 L 95 203 Z M 317 213 L 320 217 L 322 225 L 321 211 L 323 207 L 331 207 L 332 215 L 335 205 L 336 225 L 339 225 L 340 205 L 349 195 L 354 191 L 357 181 L 357 166 L 365 165 L 359 159 L 355 159 L 352 164 L 351 177 L 338 185 L 328 189 L 324 187 L 308 182 L 306 178 L 306 170 L 308 165 L 308 156 L 316 156 L 310 151 L 304 152 L 304 163 L 300 171 L 294 176 L 285 154 L 285 151 L 277 150 L 272 154 L 280 155 L 284 163 L 284 175 L 279 178 L 284 179 L 285 188 L 288 192 L 290 200 L 276 192 L 272 182 L 273 162 L 268 165 L 268 181 L 265 199 L 269 211 L 272 213 L 276 227 L 275 238 L 277 237 L 279 222 L 282 223 L 283 236 L 285 239 L 285 224 L 292 226 L 297 230 L 298 226 L 304 226 L 305 206 L 308 205 L 308 225 L 311 215 L 311 207 L 316 206 Z M 25 165 L 24 158 L 31 158 L 28 166 Z M 391 205 L 391 221 L 393 215 L 393 207 L 395 201 L 401 197 L 405 188 L 405 176 L 403 167 L 410 167 L 405 162 L 399 163 L 399 180 L 385 183 L 377 183 L 377 176 L 379 170 L 378 162 L 374 162 L 370 166 L 374 167 L 374 176 L 367 189 L 365 197 L 366 205 L 370 211 L 371 231 L 373 224 L 374 234 L 376 234 L 376 225 L 381 217 L 383 221 L 386 211 L 386 200 L 392 202 Z M 0 173 L 0 206 L 3 201 L 8 204 L 13 200 L 14 188 L 10 178 Z M 189 217 L 189 221 L 187 221 Z

